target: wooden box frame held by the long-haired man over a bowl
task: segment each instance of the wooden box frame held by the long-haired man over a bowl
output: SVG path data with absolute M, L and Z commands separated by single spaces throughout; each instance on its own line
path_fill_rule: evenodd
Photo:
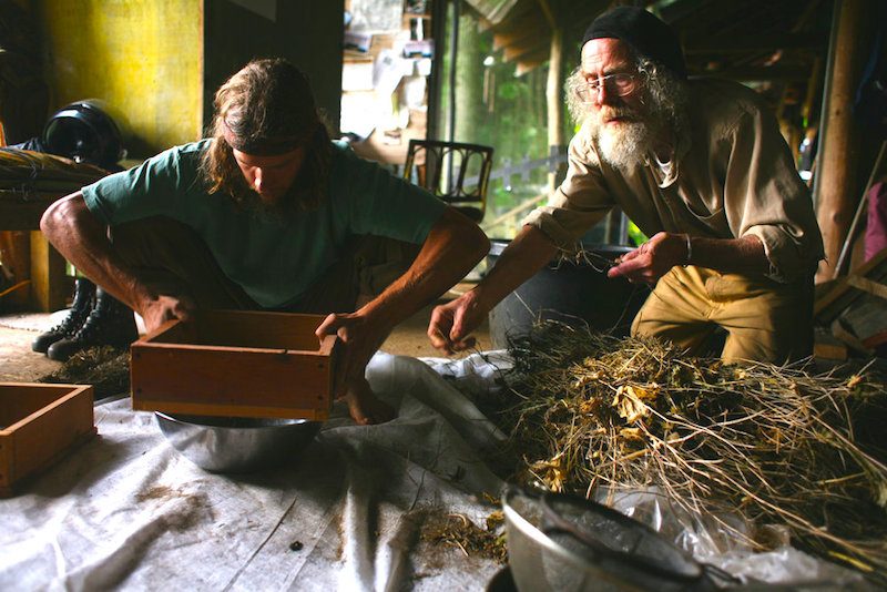
M 337 337 L 323 316 L 204 310 L 171 320 L 130 348 L 132 407 L 224 417 L 329 417 Z

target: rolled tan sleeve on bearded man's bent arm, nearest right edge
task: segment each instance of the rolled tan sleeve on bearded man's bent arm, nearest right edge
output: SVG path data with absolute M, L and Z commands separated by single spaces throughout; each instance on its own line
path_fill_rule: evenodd
M 772 279 L 808 275 L 823 258 L 823 238 L 776 119 L 763 108 L 747 110 L 732 143 L 724 204 L 734 236 L 761 238 Z

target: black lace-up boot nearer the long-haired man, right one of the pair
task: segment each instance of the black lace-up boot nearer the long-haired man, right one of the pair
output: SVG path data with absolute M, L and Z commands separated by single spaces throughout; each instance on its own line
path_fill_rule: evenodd
M 50 359 L 64 361 L 89 347 L 111 346 L 125 349 L 139 338 L 135 317 L 129 307 L 102 288 L 95 290 L 95 307 L 72 337 L 55 341 L 47 350 Z

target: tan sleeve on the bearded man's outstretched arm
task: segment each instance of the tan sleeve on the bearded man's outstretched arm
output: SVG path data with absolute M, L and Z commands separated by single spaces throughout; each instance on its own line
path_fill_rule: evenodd
M 548 204 L 530 212 L 524 225 L 536 226 L 564 251 L 575 251 L 579 239 L 613 207 L 597 152 L 583 127 L 570 141 L 567 177 L 549 195 Z

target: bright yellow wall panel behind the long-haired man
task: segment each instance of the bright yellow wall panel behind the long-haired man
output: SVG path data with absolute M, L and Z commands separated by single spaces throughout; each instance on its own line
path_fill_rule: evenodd
M 133 135 L 130 157 L 201 136 L 201 0 L 34 0 L 53 109 L 101 99 Z

